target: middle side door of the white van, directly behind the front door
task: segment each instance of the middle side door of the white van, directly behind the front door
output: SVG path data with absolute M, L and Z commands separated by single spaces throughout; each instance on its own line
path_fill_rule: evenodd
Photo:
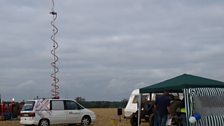
M 66 123 L 66 113 L 63 100 L 51 100 L 51 115 L 49 116 L 51 124 Z

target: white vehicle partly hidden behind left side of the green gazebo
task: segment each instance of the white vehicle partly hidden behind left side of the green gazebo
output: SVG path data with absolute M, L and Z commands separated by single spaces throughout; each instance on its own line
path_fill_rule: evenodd
M 130 118 L 131 115 L 137 111 L 137 102 L 138 102 L 139 94 L 140 94 L 139 89 L 135 89 L 132 91 L 130 98 L 128 100 L 128 103 L 124 109 L 125 118 Z M 142 94 L 142 99 L 150 100 L 149 97 L 150 97 L 149 93 Z

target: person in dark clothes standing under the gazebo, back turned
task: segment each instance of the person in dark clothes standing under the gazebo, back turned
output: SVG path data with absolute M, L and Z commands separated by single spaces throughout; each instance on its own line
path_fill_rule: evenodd
M 166 126 L 167 107 L 170 105 L 170 100 L 171 98 L 167 91 L 164 91 L 163 95 L 156 97 L 154 126 Z

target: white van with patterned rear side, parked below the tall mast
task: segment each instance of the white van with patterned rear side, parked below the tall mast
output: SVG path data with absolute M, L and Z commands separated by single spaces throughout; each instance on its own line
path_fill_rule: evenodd
M 51 124 L 81 124 L 88 126 L 96 121 L 93 111 L 71 99 L 38 99 L 25 102 L 20 124 L 49 126 Z

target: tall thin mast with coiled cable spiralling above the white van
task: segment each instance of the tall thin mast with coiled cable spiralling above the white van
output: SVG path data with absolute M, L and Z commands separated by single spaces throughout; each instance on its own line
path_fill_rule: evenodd
M 52 21 L 51 21 L 51 25 L 52 25 L 52 31 L 53 34 L 51 35 L 51 40 L 53 42 L 53 49 L 51 50 L 51 54 L 53 55 L 53 61 L 51 63 L 51 66 L 53 67 L 53 72 L 51 74 L 51 78 L 52 78 L 52 89 L 51 89 L 51 95 L 52 98 L 56 98 L 59 99 L 59 86 L 58 86 L 58 82 L 59 79 L 57 77 L 57 73 L 59 72 L 59 68 L 57 67 L 57 61 L 58 61 L 58 56 L 56 55 L 56 49 L 58 48 L 58 43 L 55 40 L 55 36 L 58 33 L 58 28 L 55 26 L 55 20 L 57 19 L 57 12 L 55 12 L 54 10 L 54 0 L 52 0 L 52 9 L 50 14 L 52 15 Z

